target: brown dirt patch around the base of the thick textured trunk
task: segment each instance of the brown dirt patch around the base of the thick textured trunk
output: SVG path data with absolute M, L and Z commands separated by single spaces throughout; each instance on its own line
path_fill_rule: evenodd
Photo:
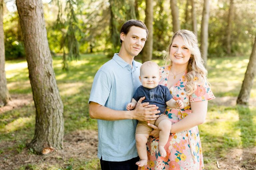
M 15 141 L 0 143 L 1 147 L 13 146 Z M 49 165 L 58 165 L 65 168 L 69 160 L 88 161 L 96 158 L 98 145 L 98 133 L 95 130 L 78 130 L 64 137 L 64 148 L 47 155 L 31 154 L 28 149 L 23 149 L 17 154 L 16 150 L 4 152 L 0 155 L 0 169 L 13 170 L 20 166 L 36 164 L 40 169 L 46 169 Z

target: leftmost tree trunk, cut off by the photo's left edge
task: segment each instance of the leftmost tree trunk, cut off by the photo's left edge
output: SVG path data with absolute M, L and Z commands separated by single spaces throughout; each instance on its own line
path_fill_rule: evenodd
M 5 77 L 5 49 L 4 49 L 4 29 L 3 29 L 3 0 L 0 0 L 0 107 L 5 106 L 9 100 L 7 80 Z

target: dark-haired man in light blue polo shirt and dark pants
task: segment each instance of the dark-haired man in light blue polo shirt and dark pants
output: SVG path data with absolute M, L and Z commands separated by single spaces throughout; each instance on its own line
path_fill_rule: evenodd
M 158 107 L 141 104 L 135 110 L 126 111 L 126 105 L 139 81 L 141 63 L 134 60 L 148 37 L 146 25 L 138 20 L 129 20 L 121 28 L 119 53 L 106 62 L 96 73 L 89 98 L 89 114 L 98 119 L 98 157 L 102 170 L 135 170 L 139 160 L 135 128 L 137 120 L 156 120 Z

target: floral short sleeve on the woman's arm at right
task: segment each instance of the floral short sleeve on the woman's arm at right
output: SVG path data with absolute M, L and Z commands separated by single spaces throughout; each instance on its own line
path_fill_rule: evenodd
M 215 99 L 209 85 L 205 83 L 205 85 L 197 85 L 196 91 L 189 96 L 189 102 L 198 102 L 205 100 Z

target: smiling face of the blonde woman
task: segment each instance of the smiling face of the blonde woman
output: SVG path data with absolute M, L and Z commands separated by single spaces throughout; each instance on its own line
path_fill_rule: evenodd
M 170 47 L 170 58 L 173 64 L 188 65 L 191 56 L 190 50 L 185 46 L 183 40 L 177 36 Z

